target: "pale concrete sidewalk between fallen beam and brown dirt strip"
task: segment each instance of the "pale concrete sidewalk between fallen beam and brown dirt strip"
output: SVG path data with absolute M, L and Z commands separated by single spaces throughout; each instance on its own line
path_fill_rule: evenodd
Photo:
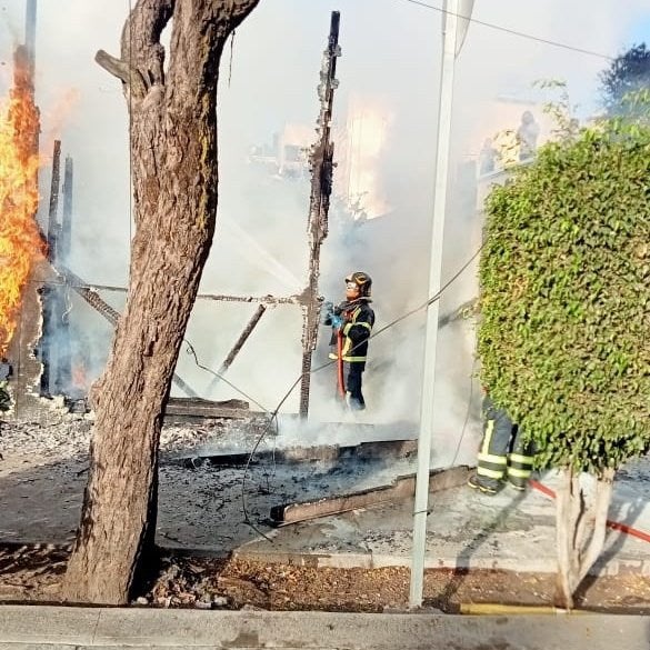
M 650 532 L 650 463 L 620 472 L 609 519 Z M 553 489 L 557 477 L 542 477 Z M 412 499 L 384 503 L 266 531 L 241 544 L 239 557 L 324 567 L 409 566 Z M 467 486 L 430 494 L 427 557 L 429 568 L 481 568 L 554 572 L 556 504 L 539 490 L 504 488 L 493 497 Z M 608 530 L 593 572 L 631 571 L 650 576 L 650 543 Z

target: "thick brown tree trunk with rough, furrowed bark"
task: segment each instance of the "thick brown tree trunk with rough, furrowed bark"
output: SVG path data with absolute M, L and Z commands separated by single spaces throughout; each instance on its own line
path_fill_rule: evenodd
M 121 58 L 136 234 L 127 306 L 93 387 L 97 420 L 81 524 L 63 581 L 73 602 L 128 602 L 153 551 L 162 413 L 214 232 L 218 66 L 258 0 L 138 0 Z M 172 20 L 163 69 L 160 33 Z

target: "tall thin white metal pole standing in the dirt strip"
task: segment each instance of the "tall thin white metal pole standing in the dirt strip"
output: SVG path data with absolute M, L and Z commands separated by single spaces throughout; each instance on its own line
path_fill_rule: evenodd
M 442 67 L 438 110 L 438 141 L 436 146 L 436 194 L 433 198 L 433 227 L 431 230 L 431 262 L 429 268 L 429 297 L 440 292 L 442 272 L 442 241 L 447 208 L 449 177 L 449 146 L 453 103 L 453 72 L 456 57 L 464 40 L 473 0 L 446 0 L 442 16 Z M 413 554 L 411 560 L 410 607 L 422 606 L 424 583 L 424 553 L 427 550 L 427 510 L 429 507 L 429 471 L 431 464 L 431 436 L 433 432 L 433 389 L 436 384 L 436 349 L 438 347 L 439 301 L 427 312 L 424 344 L 424 374 L 418 438 L 418 474 L 413 509 Z

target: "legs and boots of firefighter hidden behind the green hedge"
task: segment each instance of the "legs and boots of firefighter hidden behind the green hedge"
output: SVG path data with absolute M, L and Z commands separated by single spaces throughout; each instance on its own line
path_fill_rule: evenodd
M 523 442 L 519 427 L 486 392 L 483 439 L 478 453 L 477 473 L 469 478 L 469 487 L 486 494 L 496 494 L 507 481 L 516 490 L 523 491 L 532 463 L 532 444 Z

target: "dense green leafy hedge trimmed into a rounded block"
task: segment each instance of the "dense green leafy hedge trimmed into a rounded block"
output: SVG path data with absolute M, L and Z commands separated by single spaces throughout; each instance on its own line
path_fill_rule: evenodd
M 599 474 L 650 449 L 650 128 L 540 148 L 486 203 L 481 381 L 540 467 Z

